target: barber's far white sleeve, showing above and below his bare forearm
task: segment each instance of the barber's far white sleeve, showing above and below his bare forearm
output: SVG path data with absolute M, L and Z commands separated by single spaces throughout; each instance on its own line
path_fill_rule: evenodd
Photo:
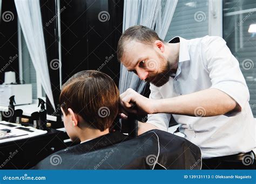
M 150 84 L 150 96 L 151 99 L 161 99 L 163 98 L 156 86 Z M 157 126 L 159 129 L 167 131 L 169 128 L 171 115 L 166 113 L 158 113 L 147 115 L 147 123 L 151 123 Z

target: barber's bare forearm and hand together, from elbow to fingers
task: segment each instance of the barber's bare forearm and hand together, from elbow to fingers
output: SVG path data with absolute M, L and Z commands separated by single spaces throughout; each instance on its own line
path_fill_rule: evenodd
M 125 115 L 130 112 L 138 115 L 168 113 L 209 117 L 241 111 L 240 105 L 232 97 L 214 88 L 158 100 L 146 98 L 132 89 L 127 89 L 120 95 L 120 105 L 121 112 Z

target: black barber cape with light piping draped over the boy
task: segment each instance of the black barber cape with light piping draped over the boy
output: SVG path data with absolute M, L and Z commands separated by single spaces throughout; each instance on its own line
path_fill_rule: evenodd
M 129 139 L 120 132 L 51 154 L 32 169 L 200 169 L 200 148 L 185 138 L 150 130 Z

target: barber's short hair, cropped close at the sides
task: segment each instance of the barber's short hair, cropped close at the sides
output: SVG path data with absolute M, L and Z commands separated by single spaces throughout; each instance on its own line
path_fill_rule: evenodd
M 124 53 L 124 47 L 126 43 L 129 41 L 136 40 L 143 44 L 153 44 L 154 41 L 160 40 L 164 43 L 164 40 L 158 37 L 158 34 L 153 30 L 149 29 L 149 27 L 136 25 L 131 26 L 127 30 L 125 30 L 120 37 L 117 45 L 117 59 L 121 61 L 121 58 Z

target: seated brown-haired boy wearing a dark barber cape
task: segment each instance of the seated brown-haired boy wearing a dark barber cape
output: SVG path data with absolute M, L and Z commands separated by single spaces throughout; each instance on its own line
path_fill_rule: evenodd
M 66 132 L 80 144 L 53 153 L 33 169 L 189 169 L 201 157 L 196 145 L 168 132 L 152 130 L 134 139 L 110 133 L 118 115 L 119 91 L 102 72 L 73 75 L 59 101 Z

